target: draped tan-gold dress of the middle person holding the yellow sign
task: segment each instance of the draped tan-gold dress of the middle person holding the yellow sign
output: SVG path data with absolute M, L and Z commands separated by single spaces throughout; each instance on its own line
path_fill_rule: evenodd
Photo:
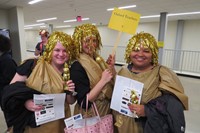
M 77 60 L 85 69 L 87 76 L 89 78 L 90 88 L 92 89 L 101 79 L 103 70 L 100 68 L 98 63 L 87 54 L 84 53 L 80 54 L 80 57 Z M 111 83 L 107 83 L 104 86 L 101 93 L 98 95 L 97 99 L 95 100 L 95 104 L 97 106 L 100 116 L 104 116 L 106 114 L 111 113 L 110 100 L 112 96 L 112 91 L 113 91 L 113 85 Z M 81 111 L 80 106 L 76 104 L 74 114 L 78 114 L 80 113 L 80 111 Z M 92 108 L 88 110 L 88 115 L 90 116 L 93 115 Z

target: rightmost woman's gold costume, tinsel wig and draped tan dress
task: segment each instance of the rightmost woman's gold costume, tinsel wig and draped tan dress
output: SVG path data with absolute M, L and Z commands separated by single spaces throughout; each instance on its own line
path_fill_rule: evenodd
M 184 94 L 183 86 L 177 75 L 167 67 L 158 65 L 158 46 L 151 34 L 141 32 L 129 40 L 125 53 L 126 62 L 132 63 L 130 53 L 133 50 L 139 50 L 141 45 L 150 49 L 153 69 L 136 74 L 131 72 L 127 66 L 123 66 L 118 75 L 144 83 L 140 104 L 147 104 L 149 101 L 161 96 L 161 91 L 166 91 L 174 94 L 181 101 L 184 108 L 188 109 L 188 97 Z M 134 66 L 134 64 L 132 65 Z M 136 122 L 134 118 L 122 115 L 116 111 L 113 111 L 113 116 L 117 125 L 115 132 L 143 133 L 141 123 Z

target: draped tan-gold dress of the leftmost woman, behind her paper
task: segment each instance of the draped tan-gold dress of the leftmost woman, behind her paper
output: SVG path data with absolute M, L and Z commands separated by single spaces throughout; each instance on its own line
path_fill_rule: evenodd
M 26 85 L 46 94 L 64 93 L 61 75 L 46 61 L 41 60 L 33 69 Z M 65 117 L 71 116 L 69 104 L 65 104 Z M 64 133 L 64 118 L 48 122 L 37 128 L 26 127 L 25 133 Z

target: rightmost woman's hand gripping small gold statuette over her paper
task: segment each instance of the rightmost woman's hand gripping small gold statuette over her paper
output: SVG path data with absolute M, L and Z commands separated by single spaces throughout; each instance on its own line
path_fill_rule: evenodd
M 145 116 L 144 105 L 140 104 L 128 104 L 131 112 L 135 113 L 138 117 Z

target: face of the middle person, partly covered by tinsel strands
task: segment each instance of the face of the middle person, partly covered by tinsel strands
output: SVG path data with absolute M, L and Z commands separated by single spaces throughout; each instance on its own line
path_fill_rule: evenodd
M 98 46 L 95 36 L 85 37 L 82 41 L 82 50 L 84 53 L 92 56 Z

